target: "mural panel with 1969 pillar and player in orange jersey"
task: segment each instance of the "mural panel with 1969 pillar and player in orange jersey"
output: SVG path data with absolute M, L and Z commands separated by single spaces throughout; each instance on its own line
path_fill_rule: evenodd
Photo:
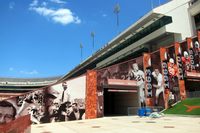
M 168 79 L 168 84 L 165 84 L 165 108 L 167 108 L 180 100 L 180 86 L 178 84 L 179 71 L 176 63 L 174 45 L 168 48 L 160 48 L 160 54 L 165 82 Z

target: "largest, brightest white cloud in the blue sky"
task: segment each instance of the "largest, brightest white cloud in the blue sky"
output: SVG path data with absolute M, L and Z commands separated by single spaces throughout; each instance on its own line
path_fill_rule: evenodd
M 60 8 L 57 10 L 49 9 L 46 7 L 30 7 L 30 10 L 37 12 L 38 14 L 48 17 L 56 23 L 67 25 L 70 23 L 81 23 L 78 16 L 74 16 L 70 9 Z

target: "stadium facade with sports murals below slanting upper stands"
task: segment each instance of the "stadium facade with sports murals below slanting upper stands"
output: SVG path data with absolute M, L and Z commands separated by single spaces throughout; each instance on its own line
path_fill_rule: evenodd
M 32 115 L 32 122 L 43 123 L 128 115 L 130 107 L 168 108 L 171 99 L 197 94 L 199 7 L 200 0 L 171 0 L 156 7 L 56 83 L 7 101 L 18 115 L 27 114 L 23 103 L 28 101 L 29 109 L 43 111 L 43 117 Z M 72 118 L 68 107 L 82 113 Z

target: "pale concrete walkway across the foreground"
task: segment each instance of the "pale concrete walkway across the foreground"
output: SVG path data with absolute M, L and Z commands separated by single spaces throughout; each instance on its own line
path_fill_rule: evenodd
M 200 117 L 104 117 L 31 126 L 32 133 L 199 133 Z

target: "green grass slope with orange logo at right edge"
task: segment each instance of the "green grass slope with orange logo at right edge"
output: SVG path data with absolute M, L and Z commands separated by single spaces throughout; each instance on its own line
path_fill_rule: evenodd
M 177 103 L 170 109 L 165 110 L 164 114 L 182 114 L 182 115 L 200 115 L 200 108 L 197 107 L 191 111 L 188 111 L 188 108 L 185 105 L 189 106 L 200 106 L 200 98 L 188 98 Z

